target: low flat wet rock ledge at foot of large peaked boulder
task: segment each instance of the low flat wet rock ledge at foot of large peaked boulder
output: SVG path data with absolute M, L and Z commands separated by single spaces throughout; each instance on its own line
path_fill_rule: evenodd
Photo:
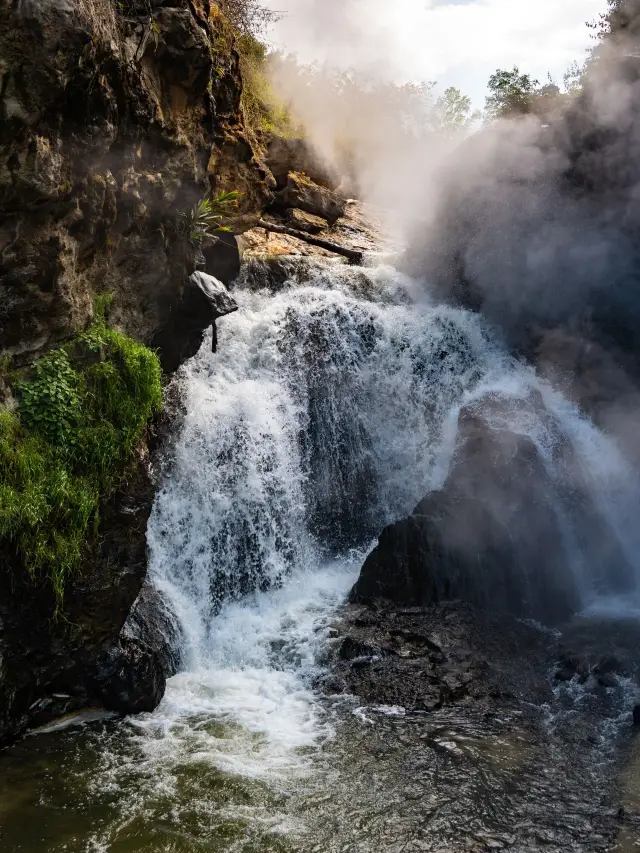
M 330 677 L 367 703 L 424 711 L 516 695 L 539 704 L 551 695 L 548 637 L 513 617 L 460 602 L 367 615 L 346 609 L 328 662 Z

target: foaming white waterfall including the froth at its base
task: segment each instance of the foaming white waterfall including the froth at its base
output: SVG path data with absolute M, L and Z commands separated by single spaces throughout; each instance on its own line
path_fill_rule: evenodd
M 430 305 L 392 269 L 336 267 L 235 296 L 218 354 L 206 342 L 182 373 L 188 411 L 149 546 L 184 672 L 137 724 L 153 760 L 188 745 L 220 770 L 274 780 L 304 772 L 330 735 L 312 681 L 331 618 L 377 532 L 444 481 L 461 406 L 499 395 L 550 469 L 569 436 L 632 554 L 623 509 L 637 504 L 611 442 L 476 316 Z M 523 405 L 532 391 L 546 413 Z M 567 521 L 568 570 L 588 604 L 572 536 Z

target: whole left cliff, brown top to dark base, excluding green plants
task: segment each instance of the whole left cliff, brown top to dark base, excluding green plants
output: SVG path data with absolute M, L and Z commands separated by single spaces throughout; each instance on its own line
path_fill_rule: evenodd
M 222 190 L 240 192 L 240 214 L 256 213 L 275 187 L 245 127 L 241 95 L 233 31 L 207 0 L 2 3 L 5 412 L 16 405 L 7 376 L 28 380 L 44 354 L 68 348 L 104 306 L 96 294 L 109 295 L 109 325 L 158 349 L 166 370 L 198 350 L 211 316 L 185 288 L 195 250 L 183 214 Z M 210 272 L 235 275 L 232 235 L 204 248 Z M 89 363 L 105 358 L 94 353 Z M 120 486 L 104 490 L 97 529 L 58 600 L 0 525 L 0 742 L 83 706 L 134 712 L 161 698 L 175 664 L 171 626 L 148 590 L 136 630 L 123 632 L 146 576 L 154 492 L 143 439 Z

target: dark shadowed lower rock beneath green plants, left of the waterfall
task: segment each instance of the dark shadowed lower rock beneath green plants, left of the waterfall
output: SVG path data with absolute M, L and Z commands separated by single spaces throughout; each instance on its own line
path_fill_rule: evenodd
M 99 547 L 71 584 L 64 620 L 48 587 L 0 576 L 0 743 L 86 706 L 155 707 L 164 692 L 157 651 L 121 631 L 147 572 L 155 494 L 146 457 L 102 507 Z

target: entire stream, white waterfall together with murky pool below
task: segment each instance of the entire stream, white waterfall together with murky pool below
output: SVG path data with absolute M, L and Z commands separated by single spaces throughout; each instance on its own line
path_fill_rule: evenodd
M 2 850 L 638 849 L 633 833 L 606 846 L 630 681 L 586 728 L 591 700 L 573 687 L 528 715 L 428 722 L 314 690 L 375 537 L 444 482 L 462 406 L 499 396 L 549 466 L 569 436 L 636 566 L 636 483 L 615 446 L 476 315 L 391 267 L 325 263 L 275 288 L 254 266 L 234 295 L 218 353 L 205 342 L 181 371 L 186 413 L 148 534 L 181 672 L 153 714 L 7 751 Z M 542 414 L 520 405 L 533 392 Z M 565 520 L 566 570 L 598 612 L 609 590 Z

